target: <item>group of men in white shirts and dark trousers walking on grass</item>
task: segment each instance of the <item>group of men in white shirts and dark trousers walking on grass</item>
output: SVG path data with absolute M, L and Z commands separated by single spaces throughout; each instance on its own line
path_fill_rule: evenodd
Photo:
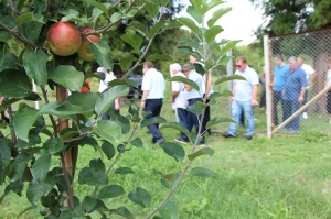
M 207 107 L 204 110 L 204 119 L 202 125 L 200 125 L 202 116 L 197 117 L 190 110 L 186 110 L 186 108 L 193 106 L 196 101 L 203 102 L 203 98 L 205 96 L 206 99 L 209 99 L 213 90 L 211 74 L 206 73 L 202 76 L 196 73 L 193 68 L 193 64 L 196 63 L 199 63 L 197 59 L 194 56 L 190 56 L 190 63 L 184 64 L 183 66 L 179 65 L 178 63 L 171 65 L 173 76 L 184 77 L 194 81 L 199 86 L 199 90 L 188 84 L 175 81 L 172 84 L 172 94 L 170 100 L 175 109 L 178 122 L 186 128 L 190 132 L 194 127 L 196 130 L 196 135 L 201 133 L 201 139 L 197 140 L 197 144 L 203 145 L 205 143 L 205 132 L 210 133 L 210 130 L 205 130 L 205 124 L 210 119 L 210 109 Z M 141 108 L 143 111 L 149 112 L 145 119 L 150 119 L 159 116 L 161 112 L 166 90 L 166 80 L 163 75 L 154 68 L 154 65 L 151 62 L 146 62 L 143 64 L 142 72 L 143 78 L 141 86 Z M 148 129 L 152 134 L 153 143 L 162 144 L 164 142 L 164 138 L 159 131 L 158 123 L 148 125 Z M 194 143 L 194 139 L 190 139 L 190 136 L 185 135 L 184 133 L 180 133 L 180 138 L 175 138 L 174 141 L 184 144 L 190 141 Z

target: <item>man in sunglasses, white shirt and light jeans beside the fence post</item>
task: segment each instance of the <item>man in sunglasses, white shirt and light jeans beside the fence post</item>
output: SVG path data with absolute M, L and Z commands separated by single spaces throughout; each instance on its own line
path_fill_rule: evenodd
M 246 80 L 234 80 L 232 87 L 233 97 L 232 101 L 232 119 L 235 123 L 229 124 L 229 130 L 227 133 L 223 133 L 224 138 L 235 138 L 236 130 L 239 123 L 241 114 L 244 112 L 247 119 L 247 133 L 246 139 L 252 140 L 255 131 L 255 120 L 254 120 L 254 107 L 258 105 L 257 102 L 257 86 L 258 86 L 258 75 L 250 68 L 247 64 L 245 57 L 239 56 L 236 58 L 235 75 L 243 76 Z

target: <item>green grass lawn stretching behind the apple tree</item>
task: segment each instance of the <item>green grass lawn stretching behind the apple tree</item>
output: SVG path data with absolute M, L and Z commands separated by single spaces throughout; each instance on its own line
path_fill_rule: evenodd
M 169 102 L 169 86 L 161 116 L 174 121 L 174 112 Z M 224 102 L 225 101 L 225 102 Z M 139 103 L 139 101 L 138 101 Z M 228 116 L 226 100 L 212 107 L 212 116 Z M 257 134 L 252 141 L 245 139 L 245 129 L 238 129 L 236 139 L 224 139 L 221 133 L 227 131 L 228 124 L 217 125 L 217 132 L 206 136 L 206 145 L 214 150 L 214 156 L 200 156 L 193 166 L 202 166 L 216 172 L 220 179 L 184 178 L 170 200 L 177 202 L 180 218 L 331 218 L 331 136 L 314 131 L 302 131 L 296 136 L 276 135 L 266 138 L 266 119 L 263 109 L 256 109 Z M 121 113 L 127 113 L 124 105 Z M 214 129 L 214 130 L 215 130 Z M 331 130 L 331 124 L 329 127 Z M 172 141 L 179 133 L 163 129 L 167 141 Z M 137 136 L 145 142 L 143 149 L 134 147 L 126 152 L 118 167 L 130 167 L 135 174 L 109 175 L 110 185 L 121 185 L 126 195 L 105 200 L 108 208 L 126 206 L 136 218 L 143 218 L 167 195 L 168 189 L 156 174 L 178 173 L 188 162 L 178 163 L 162 149 L 151 144 L 147 129 L 139 129 Z M 186 153 L 191 146 L 183 145 Z M 88 165 L 89 160 L 102 157 L 106 166 L 113 161 L 100 156 L 98 151 L 85 145 L 79 149 L 78 171 Z M 58 160 L 53 160 L 57 165 Z M 189 171 L 190 172 L 190 171 Z M 77 172 L 78 173 L 78 172 Z M 75 194 L 82 200 L 90 195 L 93 188 L 78 185 L 75 177 Z M 147 189 L 152 196 L 148 209 L 132 204 L 128 194 L 137 187 Z M 6 185 L 1 186 L 3 194 Z M 22 197 L 10 194 L 1 204 L 0 218 L 15 218 L 31 204 Z M 40 202 L 20 218 L 42 218 Z M 100 218 L 93 213 L 93 218 Z M 119 218 L 119 217 L 110 217 Z

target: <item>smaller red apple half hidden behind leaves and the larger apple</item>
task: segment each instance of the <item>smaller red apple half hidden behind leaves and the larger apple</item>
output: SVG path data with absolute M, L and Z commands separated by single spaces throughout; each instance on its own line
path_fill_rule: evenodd
M 81 33 L 88 33 L 93 31 L 93 29 L 81 29 L 79 31 Z M 83 36 L 81 48 L 77 52 L 78 57 L 82 58 L 83 61 L 93 61 L 94 55 L 89 50 L 89 42 L 98 42 L 98 41 L 100 41 L 100 39 L 96 35 Z

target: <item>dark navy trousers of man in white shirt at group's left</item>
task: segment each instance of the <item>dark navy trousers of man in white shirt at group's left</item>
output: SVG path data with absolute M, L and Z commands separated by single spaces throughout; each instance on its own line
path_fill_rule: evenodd
M 145 119 L 151 119 L 156 116 L 160 116 L 162 103 L 162 99 L 146 99 L 143 111 L 150 111 L 151 113 L 146 116 Z M 163 139 L 161 132 L 159 131 L 159 123 L 150 124 L 147 128 L 153 135 L 153 143 L 156 143 L 156 141 L 159 139 Z

